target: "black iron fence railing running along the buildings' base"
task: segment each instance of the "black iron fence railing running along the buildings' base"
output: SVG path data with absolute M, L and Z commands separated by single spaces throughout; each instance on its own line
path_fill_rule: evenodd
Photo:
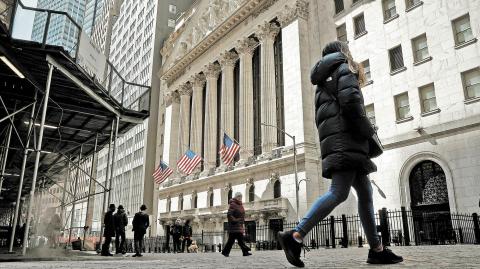
M 480 244 L 479 219 L 476 213 L 412 212 L 405 208 L 388 211 L 382 208 L 375 214 L 377 231 L 384 245 L 443 245 Z M 278 231 L 292 230 L 297 222 L 281 222 L 281 225 L 247 224 L 245 242 L 252 249 L 280 249 L 276 239 Z M 200 251 L 221 251 L 228 239 L 228 231 L 197 231 L 192 240 Z M 330 216 L 318 223 L 304 239 L 310 248 L 362 247 L 367 244 L 358 215 Z M 133 251 L 133 240 L 127 240 L 127 248 Z M 234 248 L 238 248 L 237 244 Z M 146 252 L 171 252 L 173 240 L 169 236 L 146 238 Z

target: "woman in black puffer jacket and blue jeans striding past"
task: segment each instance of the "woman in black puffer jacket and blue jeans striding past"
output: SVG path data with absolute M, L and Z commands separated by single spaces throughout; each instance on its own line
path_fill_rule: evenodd
M 320 136 L 322 174 L 332 179 L 332 184 L 329 191 L 313 203 L 297 227 L 279 233 L 278 240 L 288 261 L 304 267 L 300 260 L 303 238 L 347 199 L 353 186 L 357 192 L 360 220 L 370 245 L 367 262 L 401 262 L 402 257 L 382 245 L 375 224 L 368 174 L 377 169 L 371 161 L 371 154 L 373 149 L 378 152 L 379 147 L 372 142 L 375 129 L 365 114 L 360 90 L 365 82 L 363 68 L 353 60 L 345 42 L 327 44 L 322 56 L 311 72 L 311 81 L 317 86 L 315 120 Z

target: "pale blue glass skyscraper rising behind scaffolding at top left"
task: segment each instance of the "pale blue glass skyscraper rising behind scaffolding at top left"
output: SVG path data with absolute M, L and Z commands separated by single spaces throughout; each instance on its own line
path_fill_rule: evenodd
M 78 25 L 83 25 L 85 0 L 38 0 L 37 7 L 67 12 Z M 33 22 L 33 41 L 42 42 L 46 23 L 47 14 L 37 12 Z M 67 16 L 53 14 L 50 18 L 46 43 L 63 46 L 66 51 L 73 53 L 79 33 L 79 29 Z

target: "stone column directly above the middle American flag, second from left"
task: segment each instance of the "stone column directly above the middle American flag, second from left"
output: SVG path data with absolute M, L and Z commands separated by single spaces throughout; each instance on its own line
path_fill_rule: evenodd
M 190 83 L 180 85 L 180 135 L 178 141 L 179 156 L 188 148 L 190 138 L 190 98 L 192 98 L 192 86 Z M 176 162 L 175 162 L 176 163 Z

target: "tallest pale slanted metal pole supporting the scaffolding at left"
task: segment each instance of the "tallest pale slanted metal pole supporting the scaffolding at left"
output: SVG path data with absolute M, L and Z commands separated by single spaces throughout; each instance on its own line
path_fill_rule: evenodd
M 27 225 L 25 227 L 25 234 L 23 235 L 22 255 L 25 255 L 27 253 L 28 232 L 30 230 L 30 215 L 32 214 L 32 201 L 33 201 L 32 199 L 33 197 L 35 197 L 35 185 L 37 183 L 38 166 L 40 164 L 40 154 L 42 151 L 43 131 L 45 129 L 45 118 L 47 117 L 48 99 L 50 97 L 50 84 L 52 82 L 53 65 L 49 64 L 48 67 L 49 69 L 48 69 L 48 76 L 47 76 L 47 86 L 45 89 L 44 104 L 42 108 L 42 119 L 40 120 L 40 132 L 38 134 L 35 166 L 33 167 L 32 189 L 30 190 L 30 203 L 28 203 L 28 210 L 27 210 Z

